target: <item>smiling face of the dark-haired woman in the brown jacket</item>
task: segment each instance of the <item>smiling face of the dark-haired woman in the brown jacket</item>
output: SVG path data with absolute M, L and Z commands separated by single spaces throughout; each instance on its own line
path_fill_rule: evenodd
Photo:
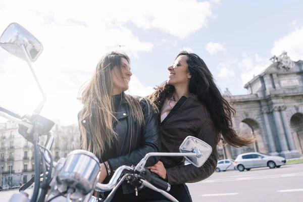
M 191 78 L 186 62 L 187 56 L 179 56 L 173 65 L 168 68 L 169 77 L 167 83 L 173 86 L 188 85 Z

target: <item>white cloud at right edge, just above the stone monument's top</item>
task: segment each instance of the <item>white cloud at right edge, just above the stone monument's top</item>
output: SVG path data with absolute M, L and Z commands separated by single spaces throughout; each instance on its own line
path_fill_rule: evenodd
M 295 24 L 295 23 L 294 23 Z M 292 32 L 286 36 L 275 41 L 271 50 L 272 55 L 279 56 L 283 51 L 287 52 L 287 55 L 293 61 L 302 60 L 303 56 L 303 27 L 295 28 Z

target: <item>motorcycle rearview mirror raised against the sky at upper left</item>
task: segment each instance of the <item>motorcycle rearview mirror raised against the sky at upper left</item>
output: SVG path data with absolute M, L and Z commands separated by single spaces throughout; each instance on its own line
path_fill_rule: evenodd
M 0 46 L 22 60 L 27 61 L 28 57 L 30 62 L 35 62 L 43 51 L 40 41 L 18 23 L 11 23 L 5 29 L 0 37 Z

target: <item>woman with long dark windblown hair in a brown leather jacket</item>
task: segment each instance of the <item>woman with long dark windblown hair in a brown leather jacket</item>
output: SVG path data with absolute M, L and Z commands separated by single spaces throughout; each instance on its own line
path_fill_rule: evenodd
M 220 135 L 235 147 L 249 145 L 255 137 L 239 136 L 232 129 L 235 110 L 221 95 L 212 73 L 199 56 L 181 52 L 168 71 L 168 80 L 148 96 L 159 112 L 161 151 L 178 152 L 189 135 L 207 142 L 213 151 L 199 168 L 184 165 L 182 157 L 162 157 L 148 168 L 172 185 L 170 193 L 179 201 L 191 201 L 185 183 L 204 180 L 214 173 Z

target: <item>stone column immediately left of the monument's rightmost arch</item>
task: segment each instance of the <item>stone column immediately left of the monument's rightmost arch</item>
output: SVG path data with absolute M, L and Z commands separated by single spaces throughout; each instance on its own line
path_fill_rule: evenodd
M 285 132 L 286 132 L 286 138 L 287 138 L 287 141 L 288 141 L 288 146 L 289 146 L 289 149 L 290 149 L 290 153 L 293 156 L 292 158 L 300 158 L 299 151 L 296 149 L 296 146 L 294 144 L 294 140 L 293 140 L 293 137 L 292 137 L 292 134 L 291 134 L 291 130 L 290 130 L 290 127 L 289 127 L 289 123 L 288 123 L 288 120 L 287 120 L 285 110 L 286 110 L 285 106 L 280 107 L 280 112 L 281 112 L 281 116 L 282 116 L 284 129 L 285 129 Z

